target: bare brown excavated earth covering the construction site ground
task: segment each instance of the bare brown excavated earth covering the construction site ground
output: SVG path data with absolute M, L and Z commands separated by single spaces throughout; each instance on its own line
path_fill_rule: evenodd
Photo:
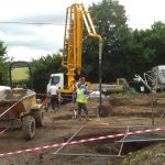
M 117 134 L 125 131 L 128 127 L 142 130 L 144 127 L 153 128 L 153 124 L 156 128 L 165 125 L 165 95 L 163 94 L 110 96 L 109 98 L 102 99 L 102 107 L 99 112 L 100 117 L 98 117 L 99 99 L 89 99 L 88 110 L 91 120 L 88 122 L 84 116 L 81 121 L 73 119 L 73 103 L 67 103 L 62 105 L 56 111 L 51 111 L 51 109 L 45 111 L 44 127 L 36 129 L 35 136 L 31 141 L 25 141 L 22 138 L 22 131 L 20 129 L 8 130 L 0 134 L 0 154 L 64 143 L 74 134 L 75 136 L 72 141 L 78 141 Z M 153 114 L 152 111 L 154 112 Z M 0 165 L 165 164 L 165 143 L 152 141 L 150 143 L 123 144 L 123 148 L 120 152 L 121 145 L 119 143 L 112 143 L 112 141 L 120 139 L 66 145 L 61 150 L 59 147 L 50 147 L 2 156 L 0 157 Z M 58 154 L 53 154 L 55 152 Z

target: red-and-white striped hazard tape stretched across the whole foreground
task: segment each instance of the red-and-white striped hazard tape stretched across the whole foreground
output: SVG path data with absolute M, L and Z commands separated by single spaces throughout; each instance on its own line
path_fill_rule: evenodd
M 133 132 L 122 132 L 122 133 L 118 133 L 118 134 L 90 138 L 90 139 L 78 140 L 78 141 L 73 141 L 73 142 L 68 142 L 68 143 L 56 143 L 56 144 L 44 145 L 44 146 L 38 146 L 38 147 L 33 147 L 33 148 L 8 152 L 8 153 L 0 154 L 0 157 L 4 157 L 4 156 L 9 156 L 9 155 L 18 155 L 21 153 L 37 152 L 37 151 L 48 150 L 48 148 L 63 146 L 63 145 L 80 144 L 80 143 L 86 143 L 86 142 L 94 142 L 94 141 L 107 140 L 107 139 L 119 138 L 119 136 L 124 136 L 124 135 L 134 135 L 134 134 L 150 133 L 150 132 L 156 132 L 156 131 L 165 131 L 165 127 L 156 128 L 156 129 L 148 129 L 148 130 L 133 131 Z

